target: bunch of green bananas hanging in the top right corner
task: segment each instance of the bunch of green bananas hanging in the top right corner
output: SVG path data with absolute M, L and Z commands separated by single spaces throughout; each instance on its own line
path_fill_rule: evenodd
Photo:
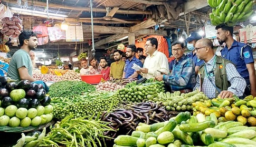
M 207 0 L 213 8 L 210 13 L 213 25 L 225 23 L 234 26 L 236 22 L 244 22 L 254 14 L 252 0 Z

